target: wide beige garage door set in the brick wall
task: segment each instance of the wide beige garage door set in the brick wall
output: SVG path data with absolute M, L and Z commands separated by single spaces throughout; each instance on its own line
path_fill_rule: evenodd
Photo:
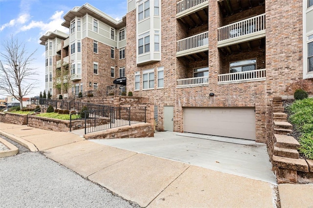
M 186 107 L 184 132 L 255 140 L 255 108 Z

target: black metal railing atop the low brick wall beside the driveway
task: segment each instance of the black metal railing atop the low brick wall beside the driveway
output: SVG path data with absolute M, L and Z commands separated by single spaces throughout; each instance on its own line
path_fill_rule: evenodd
M 85 134 L 109 128 L 146 123 L 146 107 L 111 107 L 86 110 Z

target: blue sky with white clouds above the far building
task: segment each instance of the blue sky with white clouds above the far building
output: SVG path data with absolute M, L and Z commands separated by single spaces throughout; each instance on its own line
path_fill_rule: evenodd
M 13 35 L 19 42 L 25 42 L 27 52 L 37 49 L 32 66 L 38 70 L 39 86 L 26 97 L 39 95 L 45 89 L 45 46 L 39 44 L 39 38 L 56 29 L 68 33 L 68 28 L 61 25 L 63 16 L 85 3 L 116 20 L 127 12 L 127 0 L 0 0 L 0 45 Z M 0 91 L 0 98 L 4 97 L 5 93 Z

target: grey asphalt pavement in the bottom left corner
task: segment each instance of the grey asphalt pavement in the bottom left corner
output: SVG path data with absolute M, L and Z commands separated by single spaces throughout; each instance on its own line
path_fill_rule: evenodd
M 40 152 L 0 158 L 0 207 L 138 207 Z

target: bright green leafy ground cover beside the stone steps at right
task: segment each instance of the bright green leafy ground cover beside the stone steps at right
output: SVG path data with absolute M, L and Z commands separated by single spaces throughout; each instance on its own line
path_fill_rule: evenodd
M 299 152 L 304 157 L 313 159 L 313 98 L 296 100 L 287 107 L 289 121 L 300 132 Z

